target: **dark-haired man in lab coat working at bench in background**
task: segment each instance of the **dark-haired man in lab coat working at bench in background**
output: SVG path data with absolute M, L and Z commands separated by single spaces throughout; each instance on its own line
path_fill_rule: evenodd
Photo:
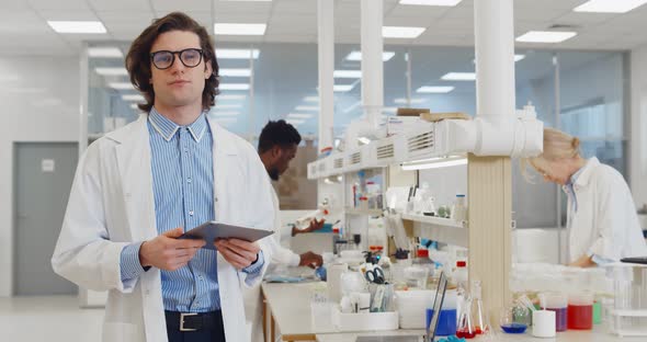
M 268 171 L 268 175 L 272 181 L 279 181 L 279 178 L 287 171 L 290 162 L 294 159 L 297 152 L 298 145 L 302 140 L 300 135 L 292 126 L 283 119 L 276 122 L 269 122 L 259 137 L 259 156 Z M 279 212 L 279 196 L 273 193 L 274 208 Z M 281 240 L 290 239 L 291 236 L 297 233 L 311 232 L 324 227 L 324 219 L 313 219 L 310 225 L 305 229 L 285 229 L 281 223 L 280 216 L 276 216 L 274 227 L 276 233 L 273 236 L 271 242 L 272 261 L 270 267 L 286 265 L 286 266 L 309 266 L 317 267 L 324 262 L 321 255 L 311 251 L 303 254 L 297 254 L 287 248 L 281 246 Z M 262 341 L 262 311 L 261 311 L 260 286 L 252 287 L 245 293 L 245 306 L 248 321 L 252 327 L 253 341 Z M 303 305 L 303 304 L 302 304 Z M 307 304 L 306 304 L 307 305 Z

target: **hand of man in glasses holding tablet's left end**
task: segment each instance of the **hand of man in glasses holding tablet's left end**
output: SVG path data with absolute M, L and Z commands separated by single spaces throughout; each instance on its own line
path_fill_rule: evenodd
M 139 248 L 139 263 L 141 266 L 175 271 L 186 265 L 205 242 L 204 240 L 179 240 L 178 238 L 182 233 L 184 233 L 184 230 L 182 227 L 178 227 L 141 243 L 141 248 Z

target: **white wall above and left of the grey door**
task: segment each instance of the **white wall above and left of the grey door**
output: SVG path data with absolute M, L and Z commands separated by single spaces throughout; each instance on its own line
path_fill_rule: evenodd
M 79 60 L 0 57 L 0 297 L 13 284 L 13 142 L 78 141 Z

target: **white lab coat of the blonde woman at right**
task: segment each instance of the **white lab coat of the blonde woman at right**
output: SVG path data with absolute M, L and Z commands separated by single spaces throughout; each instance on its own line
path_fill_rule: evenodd
M 620 172 L 593 157 L 577 178 L 574 191 L 577 210 L 566 192 L 569 262 L 584 254 L 613 261 L 647 255 L 636 206 Z

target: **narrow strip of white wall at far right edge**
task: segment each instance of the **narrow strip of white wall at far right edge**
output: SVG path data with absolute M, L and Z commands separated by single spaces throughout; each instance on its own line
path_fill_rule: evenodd
M 632 116 L 629 179 L 637 206 L 647 203 L 647 45 L 631 53 Z

